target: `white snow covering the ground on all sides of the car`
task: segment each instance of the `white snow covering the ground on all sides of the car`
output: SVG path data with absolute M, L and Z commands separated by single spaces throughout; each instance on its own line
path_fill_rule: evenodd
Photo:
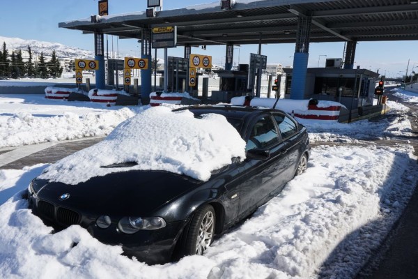
M 390 147 L 364 141 L 411 136 L 402 115 L 408 108 L 388 105 L 390 120 L 307 121 L 311 142 L 336 145 L 314 147 L 307 172 L 216 239 L 204 256 L 161 266 L 124 257 L 120 247 L 100 243 L 79 226 L 51 234 L 22 198 L 29 181 L 49 165 L 2 169 L 0 278 L 352 278 L 385 238 L 418 179 L 408 140 Z M 0 152 L 107 135 L 147 108 L 2 95 Z

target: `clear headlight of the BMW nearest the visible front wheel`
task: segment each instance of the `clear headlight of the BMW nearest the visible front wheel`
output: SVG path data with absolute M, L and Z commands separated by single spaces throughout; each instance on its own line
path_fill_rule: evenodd
M 161 217 L 124 217 L 119 221 L 118 229 L 125 234 L 134 234 L 140 229 L 161 229 L 166 225 L 167 223 Z

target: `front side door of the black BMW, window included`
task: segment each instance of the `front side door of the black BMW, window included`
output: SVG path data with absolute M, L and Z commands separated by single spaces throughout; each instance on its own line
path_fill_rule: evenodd
M 240 187 L 240 216 L 254 211 L 281 190 L 285 179 L 281 177 L 287 165 L 286 144 L 281 141 L 277 125 L 270 114 L 259 116 L 247 129 L 247 152 L 267 151 L 265 159 L 247 158 L 240 166 L 245 179 Z

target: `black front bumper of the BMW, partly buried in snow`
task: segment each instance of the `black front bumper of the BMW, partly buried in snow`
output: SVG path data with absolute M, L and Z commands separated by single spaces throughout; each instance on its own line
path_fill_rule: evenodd
M 186 220 L 167 223 L 166 227 L 155 230 L 139 230 L 134 234 L 125 234 L 117 228 L 118 218 L 106 229 L 95 223 L 99 216 L 82 213 L 75 209 L 60 206 L 29 193 L 29 208 L 41 218 L 45 225 L 60 231 L 70 225 L 80 225 L 98 239 L 109 245 L 120 245 L 123 255 L 136 257 L 146 264 L 164 264 L 171 261 L 176 242 L 185 227 Z

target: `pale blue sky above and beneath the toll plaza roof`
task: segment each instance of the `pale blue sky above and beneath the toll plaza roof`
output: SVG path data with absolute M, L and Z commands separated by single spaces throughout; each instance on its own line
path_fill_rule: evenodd
M 164 0 L 163 9 L 184 8 L 213 0 Z M 93 35 L 82 35 L 81 31 L 60 29 L 59 22 L 84 19 L 98 12 L 98 0 L 67 0 L 67 1 L 26 1 L 3 0 L 0 14 L 0 36 L 44 40 L 80 47 L 84 50 L 94 49 Z M 146 0 L 109 0 L 109 14 L 131 13 L 146 10 Z M 7 28 L 5 28 L 7 27 Z M 109 45 L 113 40 L 114 51 L 139 56 L 140 47 L 136 40 L 118 40 L 109 36 Z M 1 42 L 0 42 L 1 43 Z M 355 66 L 367 68 L 386 75 L 401 77 L 405 75 L 410 60 L 408 75 L 412 68 L 418 68 L 418 42 L 360 42 L 357 45 Z M 344 43 L 311 43 L 309 46 L 309 67 L 325 66 L 326 58 L 342 58 Z M 402 50 L 402 51 L 399 51 Z M 111 50 L 109 50 L 111 51 Z M 234 63 L 248 63 L 249 54 L 257 53 L 258 45 L 242 45 L 234 52 Z M 283 66 L 293 64 L 295 44 L 263 45 L 263 55 L 268 56 L 268 63 L 281 63 Z M 183 56 L 183 47 L 169 49 L 169 56 Z M 206 50 L 192 48 L 192 53 L 212 55 L 212 63 L 223 64 L 224 46 L 208 46 Z M 325 56 L 327 55 L 327 56 Z M 162 50 L 157 53 L 159 58 L 164 55 Z

